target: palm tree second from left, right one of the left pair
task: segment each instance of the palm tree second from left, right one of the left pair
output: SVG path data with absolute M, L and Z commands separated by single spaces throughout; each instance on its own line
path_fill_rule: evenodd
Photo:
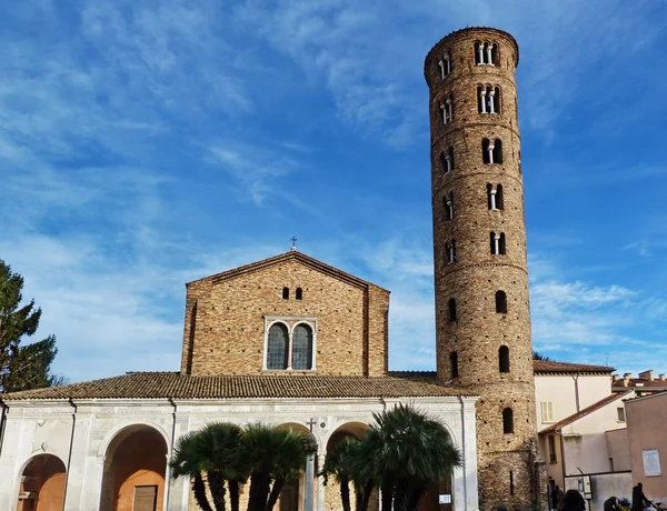
M 249 465 L 248 511 L 271 511 L 285 482 L 306 465 L 308 437 L 291 430 L 250 424 L 242 442 L 242 458 Z

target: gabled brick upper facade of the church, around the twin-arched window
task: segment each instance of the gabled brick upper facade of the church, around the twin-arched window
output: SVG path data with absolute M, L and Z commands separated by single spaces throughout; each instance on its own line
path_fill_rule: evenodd
M 385 375 L 389 291 L 296 251 L 272 259 L 188 284 L 181 372 L 285 374 L 262 370 L 265 317 L 281 317 L 317 320 L 316 371 L 295 373 Z

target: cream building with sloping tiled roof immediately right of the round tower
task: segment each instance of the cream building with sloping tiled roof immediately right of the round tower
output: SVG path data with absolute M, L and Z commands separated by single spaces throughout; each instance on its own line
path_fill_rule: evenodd
M 631 497 L 625 400 L 635 394 L 627 387 L 611 392 L 613 371 L 535 361 L 538 444 L 549 482 L 583 490 L 590 480 L 593 511 L 610 495 Z

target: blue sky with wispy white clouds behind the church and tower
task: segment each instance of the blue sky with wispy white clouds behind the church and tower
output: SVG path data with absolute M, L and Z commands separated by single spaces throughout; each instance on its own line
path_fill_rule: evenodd
M 0 259 L 54 370 L 177 370 L 185 282 L 295 234 L 432 369 L 422 63 L 466 26 L 520 46 L 535 348 L 667 372 L 664 0 L 4 2 Z

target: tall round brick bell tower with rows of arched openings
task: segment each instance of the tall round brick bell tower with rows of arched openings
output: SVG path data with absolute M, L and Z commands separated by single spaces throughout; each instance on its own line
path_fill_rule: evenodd
M 426 57 L 438 378 L 480 395 L 480 509 L 538 504 L 520 137 L 507 32 L 467 28 Z

